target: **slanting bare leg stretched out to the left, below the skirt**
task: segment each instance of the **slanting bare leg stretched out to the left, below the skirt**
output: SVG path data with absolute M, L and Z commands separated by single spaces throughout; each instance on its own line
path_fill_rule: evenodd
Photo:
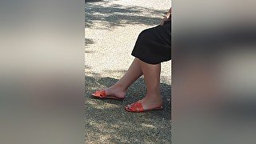
M 128 87 L 142 76 L 142 68 L 140 66 L 140 60 L 134 58 L 134 62 L 130 65 L 126 74 L 122 76 L 113 86 L 107 88 L 106 95 L 112 95 L 119 98 L 124 98 Z

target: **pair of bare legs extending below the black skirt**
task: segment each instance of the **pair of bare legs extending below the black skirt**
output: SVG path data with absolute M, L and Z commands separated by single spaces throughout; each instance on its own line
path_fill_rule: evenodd
M 160 63 L 151 65 L 142 62 L 138 58 L 134 58 L 134 62 L 132 62 L 126 74 L 124 74 L 113 86 L 107 88 L 106 94 L 124 98 L 128 87 L 143 74 L 146 82 L 146 96 L 142 98 L 140 102 L 145 109 L 159 106 L 162 104 L 162 97 L 160 94 L 160 72 Z

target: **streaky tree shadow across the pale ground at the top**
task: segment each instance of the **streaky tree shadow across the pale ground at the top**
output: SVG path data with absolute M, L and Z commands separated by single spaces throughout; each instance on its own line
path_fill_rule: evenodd
M 158 25 L 166 11 L 141 6 L 106 5 L 108 2 L 86 2 L 86 28 L 114 29 L 115 26 Z

